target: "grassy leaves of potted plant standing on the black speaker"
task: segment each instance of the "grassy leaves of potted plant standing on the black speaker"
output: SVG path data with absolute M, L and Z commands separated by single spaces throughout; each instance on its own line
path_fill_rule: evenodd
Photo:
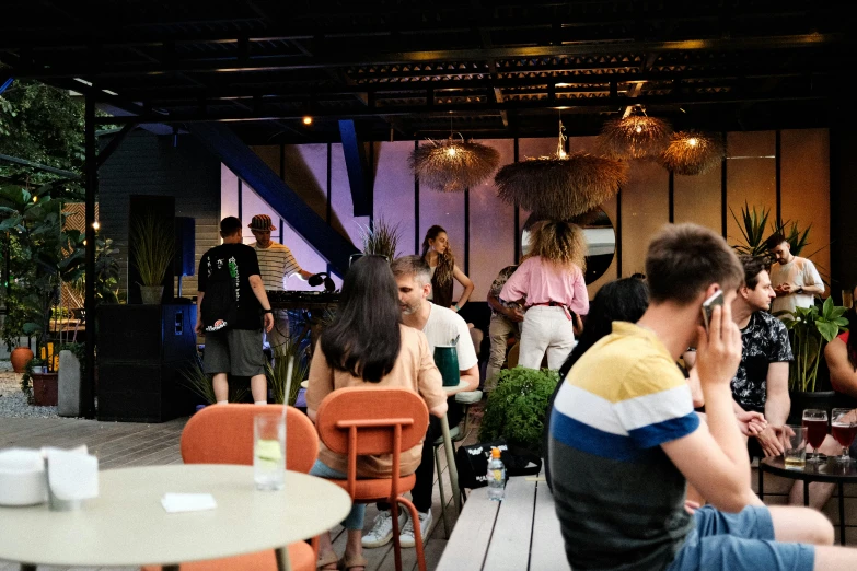
M 142 286 L 160 286 L 173 261 L 175 231 L 149 212 L 136 218 L 130 229 L 131 260 Z

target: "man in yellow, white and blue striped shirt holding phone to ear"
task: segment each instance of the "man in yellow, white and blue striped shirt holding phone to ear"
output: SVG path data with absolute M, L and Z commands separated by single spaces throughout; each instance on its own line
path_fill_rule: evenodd
M 572 569 L 758 571 L 854 569 L 833 527 L 808 508 L 765 506 L 732 410 L 741 360 L 731 302 L 743 281 L 714 232 L 670 224 L 646 258 L 649 307 L 571 368 L 551 417 L 551 475 Z M 723 305 L 702 323 L 703 302 Z M 691 345 L 707 424 L 675 366 Z M 710 504 L 686 505 L 687 483 Z

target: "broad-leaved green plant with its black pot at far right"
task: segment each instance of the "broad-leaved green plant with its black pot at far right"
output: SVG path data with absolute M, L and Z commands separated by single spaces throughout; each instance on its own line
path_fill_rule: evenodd
M 791 413 L 789 423 L 800 423 L 806 408 L 823 408 L 830 413 L 836 393 L 831 388 L 823 366 L 824 346 L 846 330 L 846 307 L 834 305 L 827 298 L 821 307 L 797 307 L 794 312 L 777 312 L 789 331 L 795 361 L 789 366 Z M 821 365 L 821 366 L 820 366 Z M 819 373 L 822 372 L 822 375 Z

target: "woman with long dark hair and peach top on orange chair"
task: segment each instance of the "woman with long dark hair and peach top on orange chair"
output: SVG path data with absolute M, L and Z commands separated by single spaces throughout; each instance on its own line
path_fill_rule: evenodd
M 447 413 L 447 395 L 440 371 L 422 331 L 402 324 L 398 290 L 390 264 L 381 256 L 364 256 L 356 261 L 343 282 L 339 307 L 333 323 L 322 331 L 310 365 L 306 413 L 315 411 L 329 393 L 345 387 L 404 387 L 418 393 L 436 417 Z M 422 457 L 422 443 L 402 453 L 401 473 L 412 474 Z M 323 478 L 346 478 L 348 458 L 320 444 L 319 459 L 310 474 Z M 360 456 L 358 476 L 390 476 L 392 457 Z M 361 532 L 366 504 L 355 504 L 343 523 L 348 532 L 345 556 L 333 551 L 329 534 L 322 534 L 319 546 L 320 569 L 362 569 Z

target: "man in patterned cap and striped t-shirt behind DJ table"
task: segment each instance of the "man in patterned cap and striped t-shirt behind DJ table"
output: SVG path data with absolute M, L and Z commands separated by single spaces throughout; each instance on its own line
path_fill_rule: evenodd
M 277 230 L 277 226 L 271 223 L 268 214 L 256 214 L 247 228 L 256 238 L 251 246 L 256 250 L 262 282 L 267 290 L 285 291 L 285 282 L 289 277 L 297 275 L 302 280 L 306 280 L 312 276 L 312 272 L 298 265 L 288 246 L 270 240 L 270 232 Z M 288 336 L 289 313 L 286 310 L 274 310 L 274 329 L 266 334 L 271 350 L 285 343 Z

